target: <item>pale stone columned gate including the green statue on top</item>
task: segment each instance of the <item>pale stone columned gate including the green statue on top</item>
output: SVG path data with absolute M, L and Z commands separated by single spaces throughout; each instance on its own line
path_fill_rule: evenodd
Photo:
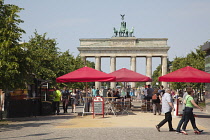
M 130 57 L 131 70 L 136 71 L 136 58 L 146 58 L 146 76 L 152 76 L 152 57 L 161 57 L 162 75 L 167 74 L 167 57 L 169 46 L 167 38 L 136 38 L 133 36 L 134 28 L 129 31 L 126 28 L 124 16 L 122 16 L 121 27 L 114 28 L 114 36 L 111 38 L 80 39 L 81 58 L 86 61 L 87 57 L 95 57 L 95 69 L 101 70 L 101 58 L 110 57 L 110 72 L 116 71 L 117 57 Z M 115 88 L 115 82 L 111 82 L 111 88 Z M 166 82 L 162 83 L 166 87 Z M 96 88 L 100 82 L 95 83 Z M 135 83 L 132 82 L 132 87 Z

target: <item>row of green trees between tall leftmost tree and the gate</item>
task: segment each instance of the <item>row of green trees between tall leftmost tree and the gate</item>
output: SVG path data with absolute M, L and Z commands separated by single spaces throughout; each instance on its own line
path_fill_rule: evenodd
M 37 31 L 26 43 L 27 48 L 27 69 L 29 75 L 36 78 L 51 81 L 51 85 L 69 87 L 84 87 L 84 83 L 56 83 L 56 78 L 84 67 L 84 62 L 77 56 L 74 57 L 69 50 L 58 51 L 55 39 L 46 38 L 46 33 L 39 35 Z M 94 63 L 87 61 L 87 65 L 94 67 Z M 30 77 L 30 76 L 29 76 Z M 32 80 L 30 78 L 28 81 Z

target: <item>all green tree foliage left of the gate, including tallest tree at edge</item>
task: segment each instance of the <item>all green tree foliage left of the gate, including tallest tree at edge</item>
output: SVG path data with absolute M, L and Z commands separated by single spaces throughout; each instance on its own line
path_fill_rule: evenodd
M 81 58 L 74 57 L 69 50 L 60 52 L 56 40 L 47 38 L 46 33 L 39 35 L 35 31 L 27 43 L 20 43 L 25 33 L 19 27 L 23 23 L 18 15 L 21 10 L 23 8 L 0 1 L 0 88 L 25 88 L 33 84 L 34 75 L 56 85 L 57 77 L 84 66 Z M 87 61 L 87 66 L 94 67 L 94 63 Z M 84 85 L 74 83 L 71 86 Z

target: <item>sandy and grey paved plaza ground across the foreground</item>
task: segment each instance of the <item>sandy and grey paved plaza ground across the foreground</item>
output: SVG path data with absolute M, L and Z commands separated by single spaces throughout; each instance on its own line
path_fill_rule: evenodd
M 70 109 L 69 109 L 70 111 Z M 77 106 L 77 112 L 82 112 L 82 106 Z M 153 115 L 151 112 L 130 111 L 129 115 L 92 115 L 79 116 L 77 113 L 67 113 L 50 116 L 26 118 L 11 118 L 0 124 L 0 139 L 77 139 L 77 140 L 207 140 L 210 138 L 210 114 L 195 109 L 196 123 L 204 133 L 195 135 L 191 124 L 188 124 L 189 135 L 169 132 L 165 124 L 158 132 L 155 125 L 164 115 Z M 173 116 L 173 127 L 176 128 L 180 117 Z

